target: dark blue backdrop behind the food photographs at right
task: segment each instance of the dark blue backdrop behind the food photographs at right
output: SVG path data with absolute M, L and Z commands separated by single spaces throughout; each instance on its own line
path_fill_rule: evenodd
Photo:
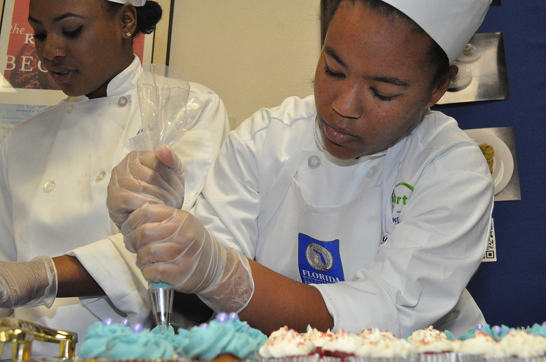
M 497 262 L 482 263 L 468 286 L 489 324 L 546 321 L 546 1 L 502 0 L 478 33 L 502 32 L 510 98 L 438 105 L 462 129 L 512 126 L 521 200 L 495 203 Z M 538 209 L 537 209 L 538 207 Z

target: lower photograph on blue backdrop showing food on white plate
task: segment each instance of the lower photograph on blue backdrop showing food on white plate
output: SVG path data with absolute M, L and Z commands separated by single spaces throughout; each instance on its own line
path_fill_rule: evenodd
M 495 201 L 521 200 L 513 127 L 464 130 L 478 144 L 495 184 Z

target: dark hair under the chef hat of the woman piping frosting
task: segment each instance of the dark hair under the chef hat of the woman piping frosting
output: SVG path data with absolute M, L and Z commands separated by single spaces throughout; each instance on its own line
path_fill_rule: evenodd
M 402 13 L 402 11 L 396 9 L 392 5 L 389 5 L 381 0 L 322 0 L 321 7 L 321 28 L 322 28 L 322 42 L 324 43 L 324 38 L 326 37 L 326 31 L 330 25 L 330 21 L 334 17 L 337 8 L 343 1 L 348 1 L 351 4 L 355 4 L 357 1 L 365 4 L 367 7 L 372 9 L 378 14 L 388 17 L 389 20 L 402 19 L 406 21 L 412 28 L 412 31 L 418 34 L 428 35 L 422 27 L 420 27 L 415 21 L 413 21 L 409 16 Z M 411 1 L 411 0 L 408 0 Z M 430 35 L 428 35 L 430 38 Z M 429 51 L 427 55 L 428 62 L 435 67 L 435 73 L 432 76 L 432 83 L 438 83 L 449 71 L 449 58 L 446 52 L 436 43 L 432 38 L 429 46 Z

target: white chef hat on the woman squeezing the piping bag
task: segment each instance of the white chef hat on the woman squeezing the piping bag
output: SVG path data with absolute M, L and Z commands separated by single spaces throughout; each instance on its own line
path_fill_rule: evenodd
M 453 63 L 482 24 L 491 0 L 382 0 L 416 22 Z

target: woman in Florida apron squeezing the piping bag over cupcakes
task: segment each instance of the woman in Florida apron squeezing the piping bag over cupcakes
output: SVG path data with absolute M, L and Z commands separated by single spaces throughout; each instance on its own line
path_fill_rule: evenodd
M 465 287 L 494 185 L 476 144 L 430 106 L 489 2 L 336 2 L 314 96 L 232 132 L 192 214 L 117 181 L 139 164 L 153 174 L 157 159 L 176 165 L 168 149 L 116 166 L 108 207 L 145 278 L 267 332 L 484 323 Z

